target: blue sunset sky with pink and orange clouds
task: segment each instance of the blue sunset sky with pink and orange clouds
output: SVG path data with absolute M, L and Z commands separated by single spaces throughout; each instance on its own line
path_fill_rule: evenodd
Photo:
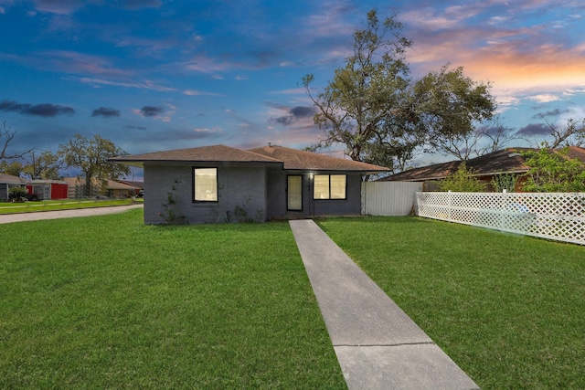
M 581 0 L 0 0 L 0 123 L 15 151 L 303 148 L 322 136 L 303 76 L 324 88 L 372 8 L 413 41 L 413 78 L 463 66 L 527 141 L 585 117 Z

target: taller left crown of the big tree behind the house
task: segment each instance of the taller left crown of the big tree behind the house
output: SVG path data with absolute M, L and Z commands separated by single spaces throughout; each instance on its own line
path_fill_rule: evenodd
M 318 146 L 343 143 L 350 158 L 368 163 L 378 162 L 385 154 L 380 147 L 388 138 L 382 129 L 388 113 L 399 117 L 399 111 L 407 110 L 400 103 L 410 84 L 404 52 L 411 42 L 399 34 L 401 27 L 395 16 L 380 25 L 377 12 L 368 12 L 367 27 L 354 33 L 353 54 L 345 68 L 335 69 L 333 81 L 314 97 L 310 90 L 314 76 L 303 78 L 318 109 L 314 122 L 325 134 Z M 380 50 L 384 50 L 381 55 Z

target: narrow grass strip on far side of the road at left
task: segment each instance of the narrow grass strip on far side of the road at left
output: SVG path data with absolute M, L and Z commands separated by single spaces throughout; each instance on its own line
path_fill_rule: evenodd
M 142 200 L 140 200 L 142 202 Z M 69 210 L 73 208 L 107 207 L 132 205 L 131 199 L 63 199 L 39 202 L 0 202 L 0 215 L 16 213 L 35 213 L 38 211 Z

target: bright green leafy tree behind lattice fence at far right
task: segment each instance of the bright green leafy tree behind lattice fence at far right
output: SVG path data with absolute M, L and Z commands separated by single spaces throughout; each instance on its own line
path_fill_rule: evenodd
M 521 153 L 528 170 L 524 190 L 529 192 L 585 192 L 585 163 L 569 158 L 569 148 Z

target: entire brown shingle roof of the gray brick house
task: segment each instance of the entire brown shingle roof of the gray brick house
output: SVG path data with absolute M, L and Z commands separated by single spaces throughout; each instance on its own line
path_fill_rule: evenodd
M 363 173 L 389 171 L 386 167 L 371 163 L 361 163 L 273 145 L 247 151 L 225 145 L 203 146 L 167 152 L 120 156 L 113 158 L 112 161 L 128 164 L 143 164 L 145 162 L 278 163 L 282 164 L 282 167 L 287 170 L 353 171 Z

